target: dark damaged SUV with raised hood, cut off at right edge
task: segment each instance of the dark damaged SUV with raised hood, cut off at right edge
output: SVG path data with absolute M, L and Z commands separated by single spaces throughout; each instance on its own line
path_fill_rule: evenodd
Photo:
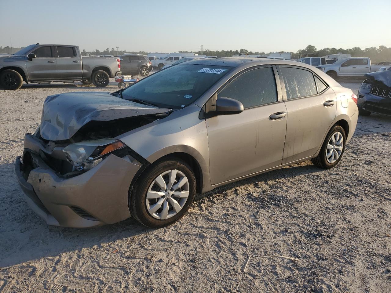
M 357 106 L 359 113 L 369 116 L 371 113 L 391 115 L 391 67 L 365 75 L 359 88 Z

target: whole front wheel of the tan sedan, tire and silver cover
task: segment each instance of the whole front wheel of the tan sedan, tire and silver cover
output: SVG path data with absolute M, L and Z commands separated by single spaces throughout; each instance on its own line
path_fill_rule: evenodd
M 178 221 L 195 196 L 195 176 L 184 161 L 166 159 L 147 168 L 130 195 L 130 212 L 138 222 L 161 228 Z

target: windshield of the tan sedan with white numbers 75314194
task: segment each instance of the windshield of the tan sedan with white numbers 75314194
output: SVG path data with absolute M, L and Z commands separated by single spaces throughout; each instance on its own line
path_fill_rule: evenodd
M 125 89 L 122 97 L 180 109 L 195 102 L 231 69 L 228 66 L 197 64 L 170 66 Z

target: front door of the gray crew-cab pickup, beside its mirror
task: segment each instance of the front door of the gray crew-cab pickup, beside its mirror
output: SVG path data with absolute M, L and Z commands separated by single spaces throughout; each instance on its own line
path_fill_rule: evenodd
M 52 80 L 57 74 L 56 57 L 53 46 L 40 46 L 31 53 L 36 55 L 32 61 L 27 61 L 27 71 L 30 80 Z

